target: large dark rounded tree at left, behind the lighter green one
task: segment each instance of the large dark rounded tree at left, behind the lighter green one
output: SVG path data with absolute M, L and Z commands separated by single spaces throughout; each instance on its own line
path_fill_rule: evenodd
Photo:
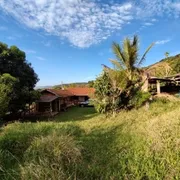
M 9 73 L 18 80 L 11 93 L 9 111 L 24 109 L 32 99 L 32 91 L 38 81 L 37 74 L 27 62 L 23 51 L 16 46 L 8 48 L 6 44 L 0 43 L 0 75 L 4 73 Z

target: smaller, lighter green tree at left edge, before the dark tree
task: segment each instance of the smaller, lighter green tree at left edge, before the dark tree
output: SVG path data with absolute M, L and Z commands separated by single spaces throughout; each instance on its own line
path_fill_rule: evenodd
M 5 115 L 8 111 L 15 83 L 17 83 L 17 79 L 10 74 L 3 74 L 0 76 L 0 117 Z

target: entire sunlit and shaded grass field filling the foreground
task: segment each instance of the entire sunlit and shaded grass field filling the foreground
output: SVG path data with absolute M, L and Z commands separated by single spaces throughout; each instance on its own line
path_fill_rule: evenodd
M 0 133 L 0 179 L 180 179 L 179 102 L 114 118 L 73 107 Z

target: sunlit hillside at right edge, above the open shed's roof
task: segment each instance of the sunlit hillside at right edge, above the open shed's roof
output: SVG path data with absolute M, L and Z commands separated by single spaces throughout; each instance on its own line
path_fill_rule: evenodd
M 151 76 L 163 77 L 180 73 L 180 54 L 171 56 L 146 67 Z

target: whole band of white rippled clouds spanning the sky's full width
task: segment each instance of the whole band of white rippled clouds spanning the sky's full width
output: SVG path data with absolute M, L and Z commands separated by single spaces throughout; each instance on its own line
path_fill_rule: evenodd
M 118 1 L 116 1 L 118 2 Z M 0 9 L 26 26 L 85 48 L 106 40 L 132 20 L 152 25 L 163 15 L 180 17 L 180 0 L 0 0 Z

